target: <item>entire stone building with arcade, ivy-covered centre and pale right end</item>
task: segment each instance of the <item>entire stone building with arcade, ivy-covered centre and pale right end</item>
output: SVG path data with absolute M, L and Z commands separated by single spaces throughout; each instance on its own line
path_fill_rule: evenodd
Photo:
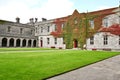
M 116 25 L 116 26 L 115 26 Z M 120 50 L 120 7 L 27 24 L 0 20 L 0 47 Z

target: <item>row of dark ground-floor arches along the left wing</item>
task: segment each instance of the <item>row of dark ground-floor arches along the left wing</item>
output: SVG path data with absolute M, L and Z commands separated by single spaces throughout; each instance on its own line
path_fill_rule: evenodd
M 36 47 L 37 41 L 35 39 L 24 38 L 0 38 L 0 47 Z

